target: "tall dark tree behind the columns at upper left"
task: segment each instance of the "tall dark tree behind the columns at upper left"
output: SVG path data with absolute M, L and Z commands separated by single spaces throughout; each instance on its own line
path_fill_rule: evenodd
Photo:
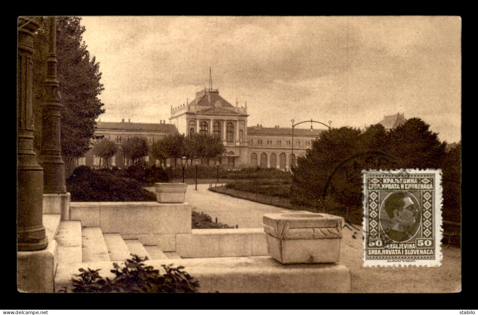
M 48 57 L 48 23 L 42 24 L 35 38 L 33 58 L 33 110 L 35 116 L 35 150 L 41 143 L 41 117 L 43 84 L 46 77 Z M 101 73 L 95 57 L 91 58 L 82 39 L 85 27 L 79 17 L 56 17 L 57 78 L 61 93 L 62 109 L 61 141 L 62 155 L 67 173 L 74 167 L 76 157 L 84 156 L 95 138 L 95 119 L 104 109 L 98 96 L 104 89 L 99 82 Z

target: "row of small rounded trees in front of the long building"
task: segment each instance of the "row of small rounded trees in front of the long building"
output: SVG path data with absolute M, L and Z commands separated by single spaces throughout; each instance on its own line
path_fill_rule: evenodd
M 92 150 L 94 155 L 104 161 L 103 166 L 109 168 L 108 161 L 118 152 L 119 148 L 113 141 L 103 138 L 95 143 Z M 226 152 L 226 148 L 219 138 L 197 133 L 187 137 L 179 133 L 169 134 L 151 146 L 148 145 L 144 137 L 132 137 L 129 141 L 121 144 L 121 149 L 123 156 L 131 159 L 133 164 L 150 153 L 153 158 L 160 161 L 168 158 L 176 160 L 185 156 L 192 164 L 195 159 L 217 158 Z

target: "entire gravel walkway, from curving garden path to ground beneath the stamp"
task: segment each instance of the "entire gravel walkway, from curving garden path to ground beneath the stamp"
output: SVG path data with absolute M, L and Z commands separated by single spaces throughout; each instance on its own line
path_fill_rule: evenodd
M 213 220 L 239 228 L 262 228 L 265 213 L 284 209 L 207 190 L 209 184 L 188 185 L 186 202 Z M 154 187 L 147 188 L 154 191 Z M 352 293 L 455 293 L 461 290 L 461 250 L 442 248 L 440 267 L 363 268 L 361 226 L 344 228 L 340 263 L 350 270 Z

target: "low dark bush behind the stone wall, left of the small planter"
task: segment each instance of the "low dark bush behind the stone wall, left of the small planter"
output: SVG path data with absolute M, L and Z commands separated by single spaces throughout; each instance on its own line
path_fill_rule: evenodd
M 143 189 L 138 181 L 88 166 L 77 167 L 66 180 L 66 188 L 73 202 L 156 201 L 156 195 Z

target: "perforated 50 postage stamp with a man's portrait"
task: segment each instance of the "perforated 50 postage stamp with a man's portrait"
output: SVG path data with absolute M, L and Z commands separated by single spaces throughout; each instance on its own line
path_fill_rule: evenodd
M 363 266 L 441 265 L 441 170 L 362 171 Z

